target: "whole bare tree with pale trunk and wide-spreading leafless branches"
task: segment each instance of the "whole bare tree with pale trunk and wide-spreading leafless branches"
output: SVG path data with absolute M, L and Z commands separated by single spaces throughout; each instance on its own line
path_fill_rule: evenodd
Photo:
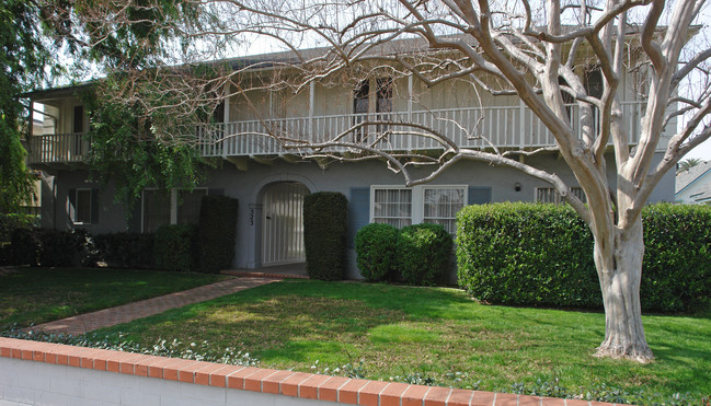
M 195 40 L 190 51 L 183 49 L 181 55 L 197 59 L 205 58 L 204 53 L 223 56 L 219 50 L 233 40 L 252 37 L 271 38 L 287 49 L 280 58 L 251 60 L 231 67 L 220 77 L 215 89 L 228 89 L 228 95 L 242 95 L 250 104 L 254 104 L 250 100 L 254 89 L 298 93 L 312 82 L 344 81 L 357 86 L 363 78 L 377 71 L 392 78 L 414 77 L 428 86 L 467 83 L 494 95 L 520 97 L 554 137 L 554 148 L 583 188 L 587 205 L 571 194 L 570 185 L 557 174 L 521 159 L 550 148 L 498 149 L 475 127 L 461 124 L 460 130 L 469 139 L 481 139 L 482 148 L 462 146 L 446 131 L 416 123 L 400 123 L 376 131 L 374 137 L 354 137 L 368 126 L 386 128 L 391 124 L 377 117 L 353 123 L 318 141 L 271 126 L 266 119 L 262 132 L 283 148 L 310 158 L 385 159 L 390 167 L 402 172 L 408 185 L 429 182 L 454 163 L 468 159 L 513 167 L 549 183 L 585 220 L 594 236 L 606 314 L 605 339 L 597 355 L 640 362 L 653 358 L 640 309 L 644 254 L 641 210 L 662 177 L 690 149 L 711 137 L 711 48 L 704 42 L 689 42 L 703 28 L 693 23 L 704 0 L 192 3 L 206 18 L 200 26 L 176 27 L 182 38 Z M 267 62 L 268 74 L 257 69 Z M 585 72 L 592 67 L 599 70 L 601 82 L 601 89 L 595 91 L 586 83 Z M 252 73 L 243 74 L 248 71 Z M 261 73 L 253 73 L 257 71 Z M 629 134 L 623 123 L 621 101 L 630 91 L 622 84 L 627 77 L 637 79 L 633 90 L 645 103 L 639 134 Z M 688 80 L 693 80 L 693 86 L 681 88 Z M 186 100 L 200 100 L 187 90 L 184 95 Z M 571 104 L 575 119 L 571 117 Z M 668 139 L 663 137 L 665 128 L 672 135 Z M 228 131 L 219 137 L 251 135 Z M 382 148 L 405 136 L 437 142 L 440 153 Z M 630 137 L 638 140 L 634 146 Z M 606 154 L 610 150 L 612 160 Z M 664 151 L 663 159 L 654 163 L 658 150 Z M 417 177 L 420 172 L 412 167 L 423 164 L 431 165 L 432 171 Z M 613 183 L 608 179 L 610 166 Z

